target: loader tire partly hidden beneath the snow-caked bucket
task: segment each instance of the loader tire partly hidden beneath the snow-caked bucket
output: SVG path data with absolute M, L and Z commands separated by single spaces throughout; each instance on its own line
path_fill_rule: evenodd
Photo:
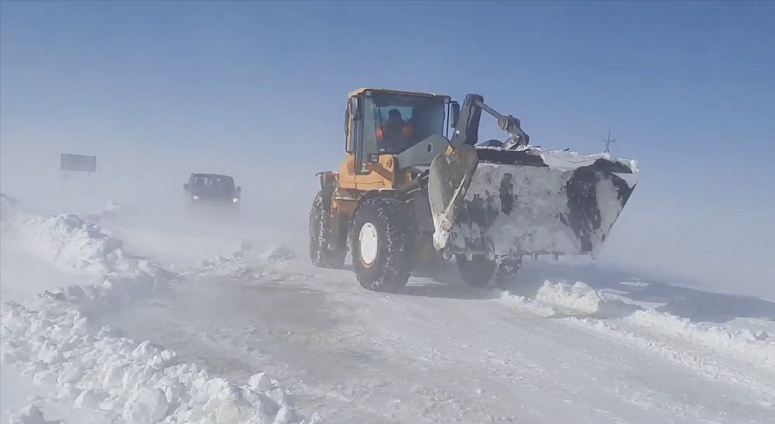
M 483 255 L 475 255 L 471 260 L 463 255 L 456 255 L 457 269 L 460 279 L 466 285 L 474 288 L 501 287 L 513 280 L 522 265 L 522 259 L 492 260 Z

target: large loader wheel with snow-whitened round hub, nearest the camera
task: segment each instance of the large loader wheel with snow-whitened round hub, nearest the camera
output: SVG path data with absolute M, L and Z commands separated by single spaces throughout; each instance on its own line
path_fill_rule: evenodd
M 375 197 L 358 208 L 350 233 L 353 269 L 367 290 L 397 292 L 412 271 L 414 220 L 399 200 Z

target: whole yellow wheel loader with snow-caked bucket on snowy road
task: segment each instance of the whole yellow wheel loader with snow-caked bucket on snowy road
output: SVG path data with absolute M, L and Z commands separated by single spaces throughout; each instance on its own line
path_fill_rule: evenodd
M 482 112 L 508 134 L 479 142 Z M 523 256 L 595 255 L 637 184 L 635 161 L 530 144 L 519 119 L 468 94 L 363 88 L 345 111 L 346 158 L 321 172 L 309 220 L 315 266 L 349 250 L 366 289 L 455 258 L 462 280 L 513 279 Z

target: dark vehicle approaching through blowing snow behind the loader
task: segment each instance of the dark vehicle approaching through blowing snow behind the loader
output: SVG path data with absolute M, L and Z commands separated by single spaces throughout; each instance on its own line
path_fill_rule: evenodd
M 192 173 L 183 184 L 189 204 L 193 207 L 226 206 L 239 208 L 242 187 L 234 185 L 234 178 L 221 174 Z

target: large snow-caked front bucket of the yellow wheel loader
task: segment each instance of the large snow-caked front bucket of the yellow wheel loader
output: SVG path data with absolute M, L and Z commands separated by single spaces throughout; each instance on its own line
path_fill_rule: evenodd
M 637 184 L 634 161 L 461 146 L 428 176 L 434 247 L 452 254 L 595 255 Z

